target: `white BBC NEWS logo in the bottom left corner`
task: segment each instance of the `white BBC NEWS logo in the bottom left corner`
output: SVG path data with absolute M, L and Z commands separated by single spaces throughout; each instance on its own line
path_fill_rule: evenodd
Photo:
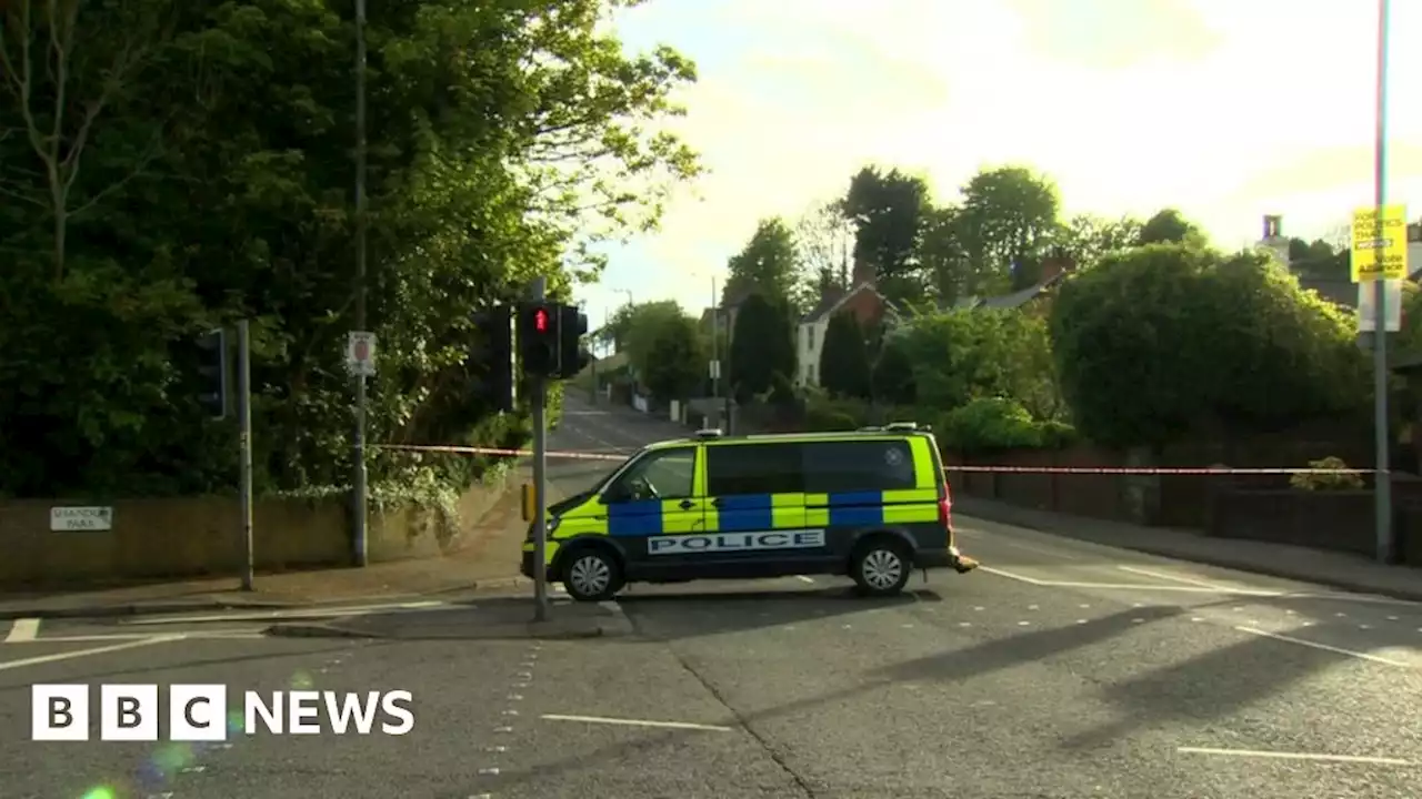
M 33 685 L 33 741 L 88 741 L 88 685 Z M 158 685 L 100 685 L 100 741 L 158 741 Z M 228 714 L 226 685 L 169 685 L 168 741 L 226 741 L 228 735 L 407 735 L 415 726 L 410 691 L 242 692 L 242 711 Z M 324 718 L 324 726 L 323 726 Z M 380 725 L 377 726 L 377 719 Z

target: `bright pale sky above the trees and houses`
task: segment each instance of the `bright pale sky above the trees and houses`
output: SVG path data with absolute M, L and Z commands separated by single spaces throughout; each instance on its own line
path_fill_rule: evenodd
M 1376 3 L 1367 0 L 650 0 L 619 33 L 700 80 L 674 124 L 710 173 L 661 229 L 604 247 L 592 327 L 627 301 L 711 304 L 757 220 L 842 196 L 865 165 L 954 202 L 981 168 L 1055 181 L 1065 213 L 1177 208 L 1220 245 L 1263 216 L 1318 237 L 1372 203 Z M 1388 196 L 1422 216 L 1422 3 L 1394 0 Z

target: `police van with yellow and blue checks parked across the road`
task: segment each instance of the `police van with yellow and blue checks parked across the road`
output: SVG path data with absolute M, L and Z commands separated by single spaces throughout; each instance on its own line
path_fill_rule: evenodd
M 533 574 L 533 530 L 523 574 Z M 547 509 L 546 570 L 582 601 L 627 583 L 848 574 L 869 596 L 958 553 L 933 434 L 909 422 L 853 432 L 691 438 L 644 446 Z

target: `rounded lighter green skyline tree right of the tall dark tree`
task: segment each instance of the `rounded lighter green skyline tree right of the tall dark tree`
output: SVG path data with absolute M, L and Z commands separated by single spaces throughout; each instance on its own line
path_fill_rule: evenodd
M 1037 259 L 1058 229 L 1058 191 L 1025 166 L 978 172 L 963 188 L 961 245 L 973 262 L 974 293 L 1037 283 Z

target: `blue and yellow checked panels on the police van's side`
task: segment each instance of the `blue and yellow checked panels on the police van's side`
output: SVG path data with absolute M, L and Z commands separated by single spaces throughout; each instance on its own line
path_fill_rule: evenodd
M 796 444 L 801 439 L 785 439 Z M 825 441 L 806 438 L 803 441 Z M 853 441 L 865 441 L 853 438 Z M 909 436 L 914 463 L 914 488 L 897 490 L 856 490 L 836 493 L 752 493 L 707 496 L 705 451 L 710 446 L 737 446 L 738 441 L 697 444 L 695 496 L 690 499 L 651 499 L 619 505 L 600 505 L 596 499 L 563 515 L 559 529 L 549 536 L 547 563 L 559 549 L 559 539 L 573 536 L 647 537 L 678 533 L 734 533 L 795 530 L 816 527 L 873 527 L 880 525 L 936 523 L 939 520 L 939 482 L 929 441 Z M 747 444 L 751 444 L 748 441 Z M 678 444 L 685 446 L 684 444 Z M 525 552 L 533 545 L 525 543 Z

